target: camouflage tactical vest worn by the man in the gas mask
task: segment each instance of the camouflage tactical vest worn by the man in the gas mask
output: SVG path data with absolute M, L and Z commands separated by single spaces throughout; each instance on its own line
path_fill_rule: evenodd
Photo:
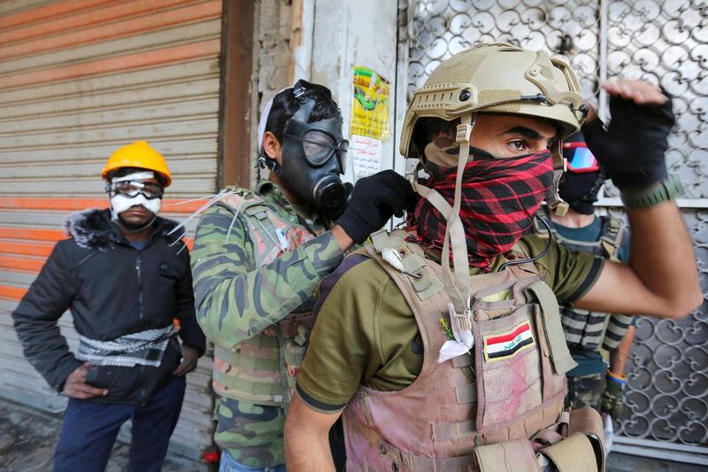
M 294 251 L 314 236 L 281 218 L 258 194 L 237 190 L 222 198 L 235 213 L 253 247 L 255 270 Z M 278 323 L 227 349 L 214 345 L 213 388 L 219 395 L 264 406 L 287 408 L 295 392 L 295 376 L 312 328 L 312 303 Z

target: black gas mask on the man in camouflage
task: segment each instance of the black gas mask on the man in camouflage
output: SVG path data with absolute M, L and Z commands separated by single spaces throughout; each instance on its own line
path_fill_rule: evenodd
M 282 165 L 273 170 L 304 203 L 334 220 L 344 211 L 353 188 L 341 178 L 349 141 L 342 136 L 340 114 L 308 123 L 315 101 L 305 96 L 305 90 L 314 87 L 306 81 L 293 87 L 300 108 L 285 124 Z

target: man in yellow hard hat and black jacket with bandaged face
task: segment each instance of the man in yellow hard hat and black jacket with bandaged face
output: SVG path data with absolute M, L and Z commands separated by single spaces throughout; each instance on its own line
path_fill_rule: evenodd
M 69 216 L 70 238 L 56 244 L 12 318 L 27 359 L 69 397 L 54 470 L 104 470 L 120 426 L 132 420 L 129 469 L 158 472 L 184 375 L 206 344 L 189 251 L 169 235 L 177 223 L 158 216 L 172 181 L 158 151 L 145 142 L 124 146 L 102 177 L 110 208 Z M 57 325 L 67 309 L 77 352 Z

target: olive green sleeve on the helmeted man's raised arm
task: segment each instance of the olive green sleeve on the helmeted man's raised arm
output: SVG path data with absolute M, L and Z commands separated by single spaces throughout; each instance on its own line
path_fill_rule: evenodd
M 520 242 L 528 254 L 540 254 L 548 244 L 548 239 L 536 235 L 524 236 Z M 573 252 L 563 244 L 553 242 L 550 250 L 539 260 L 536 267 L 561 303 L 573 303 L 588 293 L 595 285 L 604 267 L 604 259 L 588 252 Z

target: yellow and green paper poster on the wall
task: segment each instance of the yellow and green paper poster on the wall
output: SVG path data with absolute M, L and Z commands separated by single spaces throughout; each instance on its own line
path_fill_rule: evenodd
M 389 126 L 389 82 L 372 69 L 354 66 L 354 99 L 351 104 L 350 135 L 386 141 Z

